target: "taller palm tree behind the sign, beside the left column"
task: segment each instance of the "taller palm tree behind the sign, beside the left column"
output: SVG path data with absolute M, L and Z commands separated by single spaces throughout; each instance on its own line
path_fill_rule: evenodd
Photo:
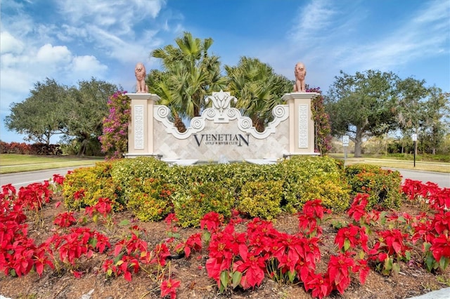
M 209 55 L 212 39 L 193 38 L 189 32 L 175 39 L 176 46 L 158 48 L 151 57 L 162 59 L 164 72 L 150 72 L 150 92 L 160 95 L 177 117 L 198 117 L 205 108 L 205 97 L 225 88 L 219 58 Z M 155 78 L 152 76 L 157 75 Z M 176 114 L 176 115 L 175 115 Z

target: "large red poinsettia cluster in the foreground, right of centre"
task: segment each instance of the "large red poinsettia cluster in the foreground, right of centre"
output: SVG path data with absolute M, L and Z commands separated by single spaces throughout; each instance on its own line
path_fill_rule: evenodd
M 228 287 L 255 288 L 267 274 L 276 281 L 300 281 L 305 290 L 319 298 L 335 289 L 343 293 L 350 284 L 351 273 L 360 272 L 364 283 L 368 273 L 366 261 L 355 261 L 352 253 L 333 255 L 327 272 L 316 273 L 316 264 L 321 260 L 319 220 L 327 212 L 320 200 L 304 204 L 297 234 L 278 232 L 272 222 L 259 218 L 248 222 L 245 232 L 237 232 L 236 221 L 224 226 L 217 213 L 208 213 L 201 222 L 211 234 L 208 276 L 223 292 Z

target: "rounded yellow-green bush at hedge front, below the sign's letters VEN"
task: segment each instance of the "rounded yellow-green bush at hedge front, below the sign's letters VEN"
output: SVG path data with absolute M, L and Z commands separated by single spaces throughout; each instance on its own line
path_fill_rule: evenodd
M 212 211 L 229 217 L 234 198 L 233 192 L 216 182 L 194 182 L 176 189 L 172 203 L 181 227 L 198 227 L 203 216 Z

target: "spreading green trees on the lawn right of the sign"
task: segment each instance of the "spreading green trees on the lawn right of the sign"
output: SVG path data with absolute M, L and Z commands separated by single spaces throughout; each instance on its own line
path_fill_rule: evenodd
M 355 157 L 364 140 L 399 133 L 403 142 L 417 134 L 423 152 L 435 154 L 449 134 L 450 93 L 425 80 L 400 79 L 392 72 L 340 72 L 326 96 L 332 134 L 349 135 Z M 404 152 L 404 148 L 401 148 Z

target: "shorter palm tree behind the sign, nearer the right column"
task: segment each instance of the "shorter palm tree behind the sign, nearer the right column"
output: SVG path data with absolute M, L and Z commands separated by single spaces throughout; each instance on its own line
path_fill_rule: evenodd
M 293 82 L 275 74 L 269 65 L 257 58 L 240 58 L 236 67 L 225 66 L 228 89 L 238 98 L 236 108 L 252 119 L 257 131 L 271 121 L 272 109 L 281 104 L 281 97 L 289 93 Z

